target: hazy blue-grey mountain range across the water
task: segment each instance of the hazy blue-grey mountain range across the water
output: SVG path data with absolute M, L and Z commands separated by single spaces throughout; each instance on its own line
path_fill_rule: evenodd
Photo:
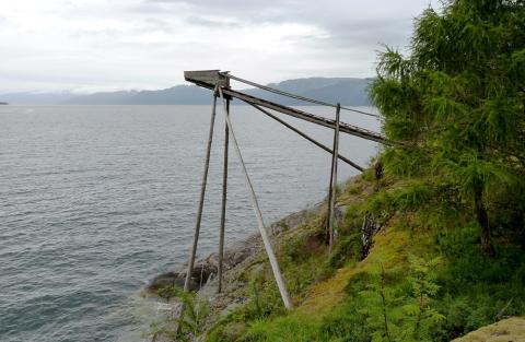
M 342 105 L 368 106 L 370 99 L 366 87 L 373 79 L 355 78 L 310 78 L 270 83 L 298 95 Z M 259 89 L 247 89 L 245 93 L 279 102 L 283 105 L 307 105 L 293 98 L 268 93 Z M 211 92 L 195 85 L 176 85 L 159 91 L 119 91 L 88 95 L 62 93 L 10 93 L 0 95 L 1 102 L 11 105 L 207 105 Z M 241 102 L 240 102 L 241 103 Z

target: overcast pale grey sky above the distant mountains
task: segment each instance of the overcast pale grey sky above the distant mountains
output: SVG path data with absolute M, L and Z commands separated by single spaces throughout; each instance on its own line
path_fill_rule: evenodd
M 0 92 L 163 89 L 184 70 L 258 82 L 374 75 L 435 0 L 0 0 Z

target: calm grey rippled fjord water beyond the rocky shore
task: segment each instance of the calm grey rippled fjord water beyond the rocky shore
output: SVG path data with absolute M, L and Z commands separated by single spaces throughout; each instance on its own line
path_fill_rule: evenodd
M 137 294 L 186 260 L 209 118 L 209 106 L 0 107 L 0 341 L 141 340 Z M 331 145 L 329 130 L 285 119 Z M 323 199 L 326 152 L 247 106 L 232 120 L 266 223 Z M 218 241 L 220 111 L 215 122 L 200 253 Z M 346 134 L 340 149 L 361 165 L 376 152 Z M 257 232 L 231 155 L 229 241 Z M 339 164 L 340 179 L 354 174 Z

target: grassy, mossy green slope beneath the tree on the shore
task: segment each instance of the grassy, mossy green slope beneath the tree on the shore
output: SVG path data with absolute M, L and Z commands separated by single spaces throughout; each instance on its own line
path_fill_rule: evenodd
M 497 316 L 525 314 L 523 250 L 499 236 L 498 256 L 486 257 L 469 214 L 440 203 L 428 184 L 380 186 L 370 172 L 355 179 L 339 196 L 346 212 L 331 257 L 323 215 L 283 234 L 277 246 L 295 308 L 284 311 L 265 264 L 249 275 L 249 302 L 220 320 L 207 341 L 450 341 Z M 382 228 L 361 260 L 364 212 Z M 420 267 L 438 260 L 424 271 L 435 293 L 416 295 L 410 256 Z

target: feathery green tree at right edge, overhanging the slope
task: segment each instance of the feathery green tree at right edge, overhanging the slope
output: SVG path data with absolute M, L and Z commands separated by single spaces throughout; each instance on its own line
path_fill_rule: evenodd
M 411 55 L 387 47 L 372 86 L 385 133 L 404 141 L 385 152 L 387 174 L 432 175 L 456 186 L 489 253 L 489 217 L 501 208 L 488 189 L 511 194 L 509 184 L 525 184 L 524 164 L 514 162 L 525 160 L 524 17 L 523 1 L 428 9 L 416 22 Z

